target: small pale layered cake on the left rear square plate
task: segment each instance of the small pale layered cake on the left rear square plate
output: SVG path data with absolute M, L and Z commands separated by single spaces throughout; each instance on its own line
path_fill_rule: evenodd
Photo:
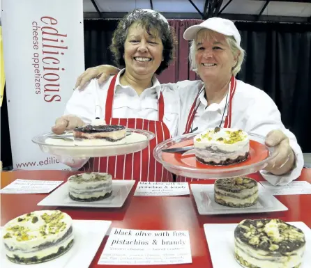
M 108 173 L 81 173 L 68 178 L 68 191 L 75 201 L 98 201 L 111 196 L 112 175 Z

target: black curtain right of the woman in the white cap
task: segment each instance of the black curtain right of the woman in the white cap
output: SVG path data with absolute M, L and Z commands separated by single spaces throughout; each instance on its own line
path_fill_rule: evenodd
M 264 90 L 303 152 L 311 152 L 310 24 L 236 22 L 246 51 L 238 79 Z

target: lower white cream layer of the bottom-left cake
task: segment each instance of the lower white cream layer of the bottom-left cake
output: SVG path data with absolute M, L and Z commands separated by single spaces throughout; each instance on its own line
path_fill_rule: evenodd
M 65 239 L 63 242 L 59 244 L 55 244 L 53 246 L 49 246 L 46 249 L 38 250 L 38 251 L 32 251 L 32 252 L 23 252 L 23 251 L 8 251 L 6 249 L 6 255 L 10 258 L 14 258 L 14 255 L 17 255 L 19 258 L 32 258 L 37 257 L 38 259 L 42 259 L 48 255 L 51 255 L 53 253 L 57 253 L 59 251 L 59 248 L 63 246 L 63 248 L 66 248 L 68 244 L 73 240 L 73 233 L 68 236 L 67 239 Z

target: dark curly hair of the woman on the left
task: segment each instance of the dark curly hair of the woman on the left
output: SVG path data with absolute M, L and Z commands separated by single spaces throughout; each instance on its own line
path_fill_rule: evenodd
M 126 36 L 128 35 L 128 29 L 130 26 L 137 22 L 142 28 L 146 29 L 146 32 L 152 36 L 151 31 L 156 30 L 163 44 L 163 61 L 159 68 L 155 71 L 155 74 L 160 74 L 165 70 L 169 63 L 174 58 L 176 37 L 174 35 L 174 29 L 169 27 L 160 17 L 158 13 L 149 13 L 142 9 L 135 9 L 131 13 L 128 13 L 119 22 L 114 35 L 112 37 L 112 45 L 110 50 L 114 55 L 114 62 L 119 68 L 125 68 L 126 63 L 123 58 L 124 43 L 126 42 Z

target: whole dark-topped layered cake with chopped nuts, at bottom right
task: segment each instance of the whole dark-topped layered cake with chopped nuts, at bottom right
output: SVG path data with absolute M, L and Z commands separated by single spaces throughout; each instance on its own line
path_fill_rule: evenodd
M 305 235 L 280 219 L 246 219 L 234 230 L 234 251 L 242 267 L 298 268 Z

